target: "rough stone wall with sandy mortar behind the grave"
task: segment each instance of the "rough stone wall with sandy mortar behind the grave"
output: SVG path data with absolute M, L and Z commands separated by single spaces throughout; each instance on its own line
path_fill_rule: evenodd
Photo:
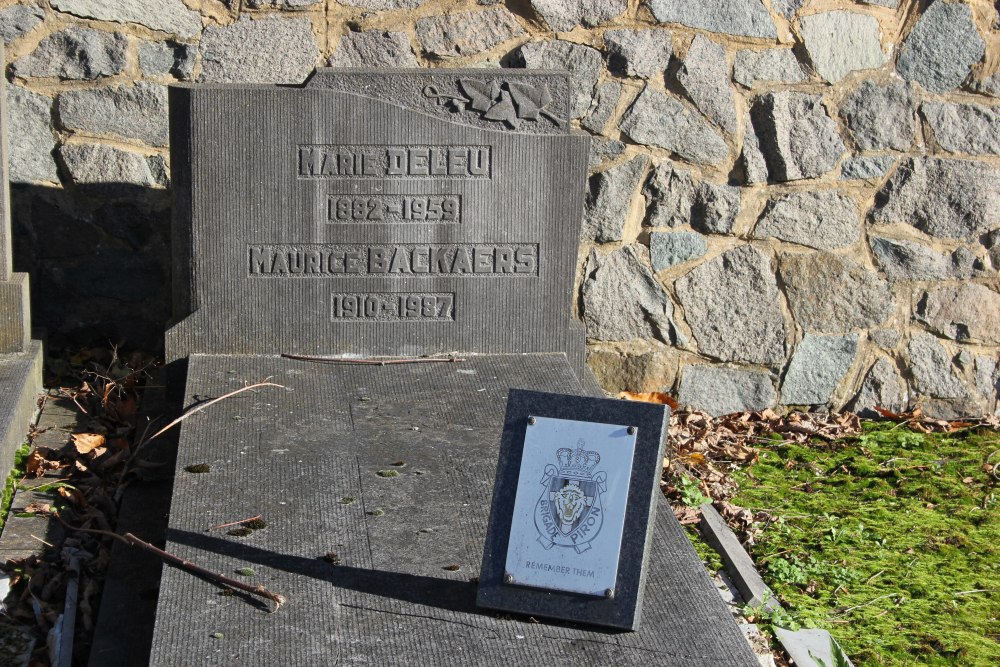
M 16 268 L 50 335 L 160 343 L 165 85 L 558 67 L 594 138 L 576 308 L 607 388 L 996 410 L 988 0 L 29 0 L 0 36 Z

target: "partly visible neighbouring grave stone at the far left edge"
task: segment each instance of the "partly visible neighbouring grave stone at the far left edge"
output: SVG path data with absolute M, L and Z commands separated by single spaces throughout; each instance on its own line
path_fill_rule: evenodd
M 4 59 L 0 45 L 0 62 Z M 27 439 L 42 391 L 42 345 L 31 339 L 28 274 L 11 261 L 10 184 L 7 180 L 7 89 L 0 81 L 0 478 Z

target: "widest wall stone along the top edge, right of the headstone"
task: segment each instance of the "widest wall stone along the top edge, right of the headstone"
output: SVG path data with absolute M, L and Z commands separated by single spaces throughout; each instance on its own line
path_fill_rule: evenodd
M 777 37 L 774 21 L 761 0 L 646 0 L 660 23 L 739 37 Z

